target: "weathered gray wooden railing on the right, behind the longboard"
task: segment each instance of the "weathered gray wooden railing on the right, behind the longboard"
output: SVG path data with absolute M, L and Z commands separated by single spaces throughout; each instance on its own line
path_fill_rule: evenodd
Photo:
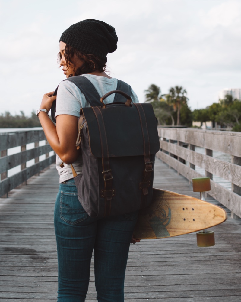
M 231 217 L 241 217 L 241 132 L 161 127 L 158 132 L 157 157 L 189 181 L 193 177 L 210 176 L 208 194 L 230 209 Z M 204 148 L 204 154 L 196 152 L 196 147 Z M 214 151 L 227 154 L 230 162 L 213 157 Z M 205 175 L 196 171 L 197 167 L 204 169 Z M 214 175 L 230 182 L 230 190 L 221 181 L 214 182 Z

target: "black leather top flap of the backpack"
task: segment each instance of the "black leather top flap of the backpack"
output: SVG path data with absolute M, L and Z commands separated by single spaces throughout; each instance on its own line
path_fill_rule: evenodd
M 101 132 L 107 141 L 108 157 L 145 155 L 144 144 L 149 145 L 149 154 L 157 153 L 160 143 L 153 107 L 151 104 L 141 104 L 141 107 L 144 112 L 142 119 L 135 104 L 128 107 L 122 103 L 112 103 L 106 105 L 106 108 L 96 107 L 100 111 L 101 122 L 98 122 L 92 107 L 82 108 L 81 113 L 89 132 L 91 154 L 102 157 Z M 147 129 L 145 137 L 148 141 L 143 138 L 143 128 Z

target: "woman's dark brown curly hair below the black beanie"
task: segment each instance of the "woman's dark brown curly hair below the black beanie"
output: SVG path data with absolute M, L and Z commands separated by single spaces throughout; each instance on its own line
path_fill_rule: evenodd
M 73 57 L 77 56 L 78 59 L 82 60 L 84 63 L 75 68 L 75 63 L 73 62 Z M 65 45 L 65 60 L 66 66 L 73 67 L 74 73 L 70 76 L 79 76 L 84 73 L 91 73 L 95 70 L 103 72 L 106 70 L 106 62 L 107 60 L 100 59 L 99 57 L 95 56 L 94 54 L 84 54 L 81 51 L 78 51 L 76 48 L 66 44 Z M 62 54 L 59 52 L 58 54 L 58 62 L 60 62 L 62 58 Z

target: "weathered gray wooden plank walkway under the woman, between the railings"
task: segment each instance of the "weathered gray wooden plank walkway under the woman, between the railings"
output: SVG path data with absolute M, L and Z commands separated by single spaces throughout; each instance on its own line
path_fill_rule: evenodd
M 198 197 L 184 177 L 160 160 L 154 187 Z M 52 165 L 0 200 L 0 301 L 56 301 L 57 191 Z M 131 245 L 125 301 L 240 302 L 241 219 L 229 218 L 212 229 L 216 245 L 210 248 L 198 248 L 195 234 Z M 93 263 L 86 301 L 96 301 Z

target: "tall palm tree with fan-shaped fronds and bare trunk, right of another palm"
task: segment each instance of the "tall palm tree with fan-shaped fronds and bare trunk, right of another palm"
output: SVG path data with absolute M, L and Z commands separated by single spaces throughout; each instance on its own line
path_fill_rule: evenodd
M 176 124 L 178 126 L 180 125 L 180 109 L 188 101 L 188 98 L 185 96 L 186 93 L 186 89 L 183 89 L 182 86 L 175 86 L 169 89 L 169 94 L 166 94 L 166 102 L 172 105 L 173 109 L 177 111 Z

